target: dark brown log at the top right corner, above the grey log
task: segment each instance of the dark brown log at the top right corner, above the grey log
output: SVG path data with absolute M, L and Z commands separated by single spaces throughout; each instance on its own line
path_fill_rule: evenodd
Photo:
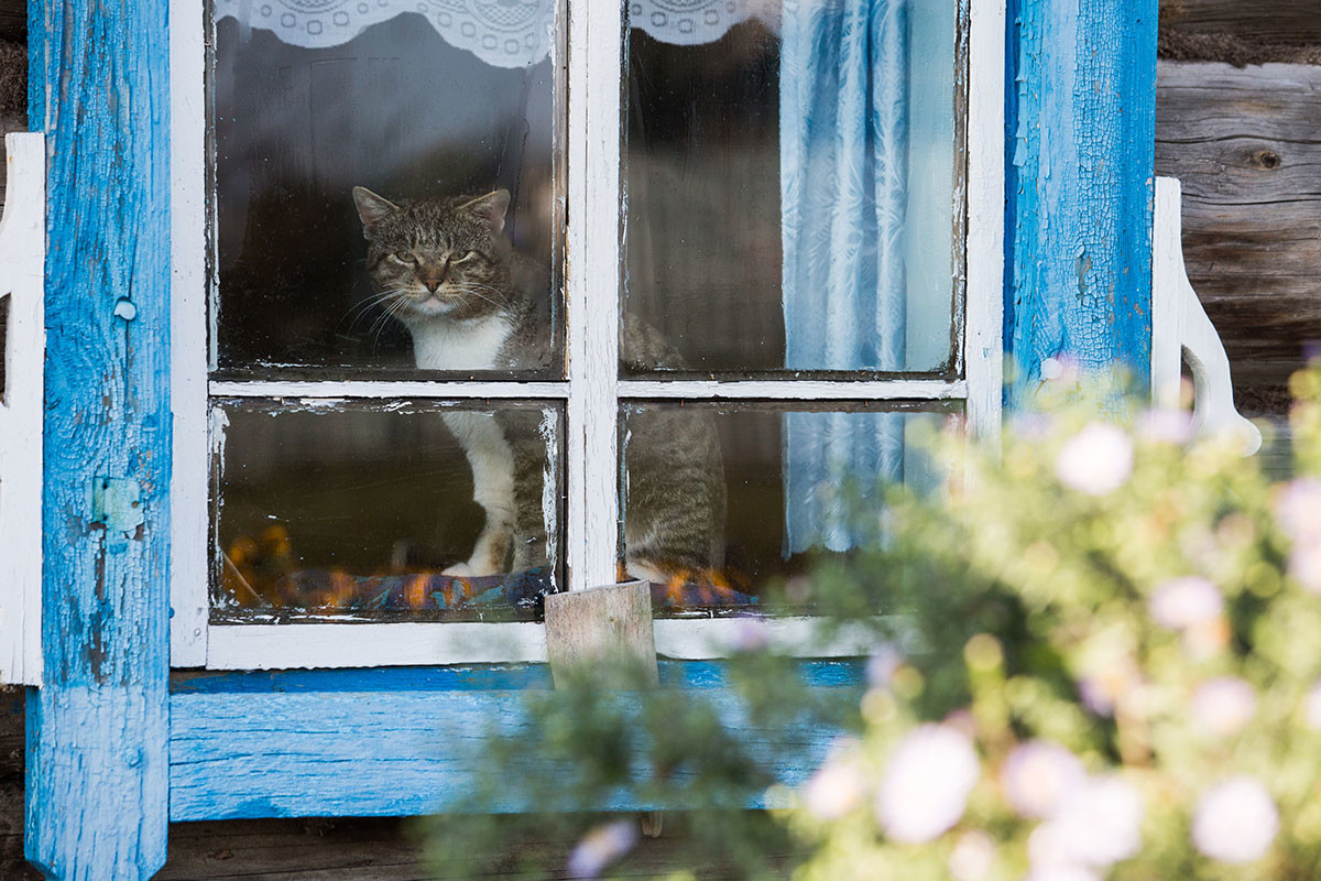
M 1316 0 L 1162 0 L 1160 7 L 1161 25 L 1176 30 L 1321 44 Z

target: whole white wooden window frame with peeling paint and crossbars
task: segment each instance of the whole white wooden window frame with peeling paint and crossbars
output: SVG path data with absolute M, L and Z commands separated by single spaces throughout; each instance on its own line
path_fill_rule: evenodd
M 210 376 L 215 334 L 209 300 L 215 296 L 207 260 L 215 229 L 209 217 L 206 159 L 206 16 L 198 0 L 170 4 L 172 108 L 172 363 L 173 518 L 170 563 L 170 663 L 210 670 L 334 668 L 526 663 L 546 660 L 536 622 L 425 623 L 211 623 L 209 402 L 217 398 L 499 400 L 536 399 L 565 408 L 568 589 L 616 581 L 620 404 L 634 400 L 758 402 L 950 402 L 964 407 L 975 436 L 995 439 L 1001 400 L 1004 284 L 1004 25 L 1003 0 L 948 0 L 967 41 L 967 69 L 956 77 L 966 118 L 963 144 L 966 217 L 960 263 L 962 301 L 951 314 L 954 376 L 947 379 L 690 379 L 618 378 L 621 265 L 621 87 L 624 34 L 618 0 L 561 5 L 567 26 L 565 314 L 567 374 L 563 382 L 349 380 L 263 382 Z M 966 29 L 966 33 L 964 33 Z M 556 63 L 565 61 L 556 58 Z M 563 88 L 560 90 L 564 91 Z M 975 149 L 968 149 L 974 145 Z M 205 232 L 203 232 L 205 231 Z M 956 243 L 958 247 L 958 243 Z M 721 618 L 658 618 L 657 651 L 680 659 L 719 658 L 736 639 L 737 622 Z M 828 646 L 810 639 L 810 621 L 769 622 L 771 639 L 802 656 L 848 656 L 856 641 Z

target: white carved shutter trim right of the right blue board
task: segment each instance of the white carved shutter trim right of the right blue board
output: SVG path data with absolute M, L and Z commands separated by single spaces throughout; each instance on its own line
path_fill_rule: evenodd
M 1262 448 L 1262 432 L 1234 408 L 1230 361 L 1184 267 L 1182 188 L 1156 178 L 1152 255 L 1152 395 L 1159 407 L 1180 405 L 1182 362 L 1193 374 L 1193 415 L 1199 435 L 1230 435 L 1244 456 Z

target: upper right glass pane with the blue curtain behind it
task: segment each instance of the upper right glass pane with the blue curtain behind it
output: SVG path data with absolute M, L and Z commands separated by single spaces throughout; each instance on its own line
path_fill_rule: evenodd
M 955 0 L 634 0 L 625 374 L 948 372 Z

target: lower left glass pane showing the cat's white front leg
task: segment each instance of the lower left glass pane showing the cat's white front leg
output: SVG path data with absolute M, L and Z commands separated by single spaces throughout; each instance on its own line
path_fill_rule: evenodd
M 532 617 L 559 573 L 560 412 L 219 400 L 213 619 Z

